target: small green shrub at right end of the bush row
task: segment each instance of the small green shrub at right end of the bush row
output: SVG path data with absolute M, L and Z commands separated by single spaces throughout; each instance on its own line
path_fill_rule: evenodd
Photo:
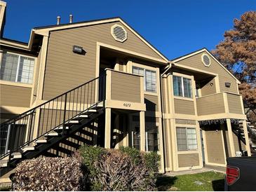
M 144 163 L 150 172 L 159 172 L 160 155 L 156 152 L 144 153 Z

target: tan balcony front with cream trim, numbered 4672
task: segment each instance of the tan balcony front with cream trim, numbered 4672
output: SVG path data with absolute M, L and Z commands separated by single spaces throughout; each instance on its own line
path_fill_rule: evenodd
M 106 69 L 105 107 L 146 111 L 143 77 Z

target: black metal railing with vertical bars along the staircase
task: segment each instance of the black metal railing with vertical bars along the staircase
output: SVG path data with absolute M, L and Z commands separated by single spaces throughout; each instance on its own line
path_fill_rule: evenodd
M 105 75 L 83 83 L 0 125 L 0 159 L 20 152 L 49 132 L 60 129 L 65 134 L 65 123 L 105 100 Z

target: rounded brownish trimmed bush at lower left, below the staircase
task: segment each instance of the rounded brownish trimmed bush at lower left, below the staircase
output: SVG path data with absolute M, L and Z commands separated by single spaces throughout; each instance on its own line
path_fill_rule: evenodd
M 78 157 L 23 160 L 15 169 L 15 191 L 82 191 L 85 177 Z

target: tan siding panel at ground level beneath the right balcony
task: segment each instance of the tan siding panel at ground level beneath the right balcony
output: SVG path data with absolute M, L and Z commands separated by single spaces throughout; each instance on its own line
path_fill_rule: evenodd
M 224 151 L 222 144 L 222 132 L 220 128 L 216 130 L 206 130 L 206 150 L 209 163 L 224 164 Z

